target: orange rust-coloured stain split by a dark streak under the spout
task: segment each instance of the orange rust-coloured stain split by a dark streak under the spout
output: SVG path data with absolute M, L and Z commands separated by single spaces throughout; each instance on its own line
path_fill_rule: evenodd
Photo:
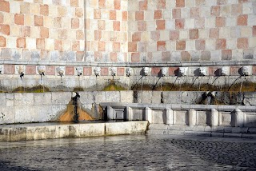
M 71 103 L 71 102 L 70 102 Z M 94 120 L 88 113 L 78 107 L 78 121 L 92 121 Z M 74 121 L 74 105 L 69 104 L 65 113 L 58 117 L 58 121 Z

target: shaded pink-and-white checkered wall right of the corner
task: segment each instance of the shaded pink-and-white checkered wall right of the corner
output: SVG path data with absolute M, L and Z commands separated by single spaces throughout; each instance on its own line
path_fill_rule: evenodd
M 254 0 L 129 0 L 130 62 L 256 58 Z

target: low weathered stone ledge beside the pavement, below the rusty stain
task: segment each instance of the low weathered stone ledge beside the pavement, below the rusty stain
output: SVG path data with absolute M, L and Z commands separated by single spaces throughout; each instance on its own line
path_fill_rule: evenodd
M 81 124 L 40 123 L 24 125 L 1 125 L 0 141 L 29 141 L 62 137 L 94 137 L 145 133 L 147 125 L 148 121 Z

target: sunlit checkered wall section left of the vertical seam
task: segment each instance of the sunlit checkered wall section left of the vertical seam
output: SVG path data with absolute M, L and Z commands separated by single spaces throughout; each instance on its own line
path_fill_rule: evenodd
M 0 1 L 0 50 L 4 60 L 82 61 L 84 1 Z

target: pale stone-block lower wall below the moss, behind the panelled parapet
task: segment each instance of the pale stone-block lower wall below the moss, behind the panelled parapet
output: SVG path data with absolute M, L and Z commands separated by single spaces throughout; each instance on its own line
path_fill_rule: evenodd
M 136 110 L 136 104 L 142 109 L 152 105 L 156 110 L 158 110 L 156 107 L 158 105 L 162 106 L 161 109 L 165 109 L 167 105 L 176 104 L 191 109 L 200 106 L 202 110 L 210 105 L 214 105 L 216 109 L 222 105 L 224 108 L 226 106 L 229 111 L 232 111 L 233 108 L 246 109 L 248 107 L 250 109 L 256 105 L 255 93 L 241 93 L 238 97 L 232 97 L 229 93 L 215 92 L 219 104 L 204 103 L 202 98 L 205 92 L 91 91 L 79 92 L 79 94 L 78 108 L 82 108 L 94 120 L 103 119 L 103 103 L 121 104 L 122 107 L 127 107 L 129 104 L 134 106 L 134 113 L 138 113 L 134 114 L 135 120 L 142 114 L 142 110 L 140 110 L 141 112 Z M 59 121 L 58 118 L 62 114 L 68 115 L 70 101 L 74 94 L 70 92 L 0 93 L 0 97 L 0 124 L 14 124 Z M 254 113 L 254 111 L 250 110 L 249 113 Z M 158 116 L 158 113 L 156 114 Z M 160 113 L 159 116 L 162 114 Z

